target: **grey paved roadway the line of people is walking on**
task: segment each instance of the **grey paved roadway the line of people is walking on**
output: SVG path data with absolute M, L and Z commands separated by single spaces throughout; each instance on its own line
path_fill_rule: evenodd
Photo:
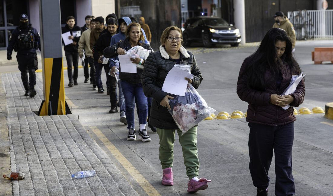
M 209 49 L 199 45 L 187 47 L 194 53 L 203 74 L 203 81 L 197 91 L 210 107 L 216 109 L 216 115 L 221 111 L 246 112 L 247 103 L 238 98 L 236 82 L 242 61 L 255 51 L 257 45 L 258 43 L 253 43 L 237 48 Z M 333 101 L 332 64 L 324 62 L 314 65 L 311 61 L 311 51 L 315 46 L 332 45 L 332 40 L 297 42 L 295 56 L 303 72 L 307 74 L 306 95 L 300 107 L 324 108 L 326 103 Z M 92 91 L 92 85 L 83 83 L 83 69 L 79 69 L 79 85 L 72 88 L 67 87 L 66 70 L 64 75 L 66 100 L 72 113 L 79 116 L 88 133 L 140 195 L 187 195 L 188 179 L 177 138 L 172 167 L 174 186 L 163 186 L 158 135 L 148 128 L 151 142 L 127 141 L 128 130 L 119 122 L 119 113 L 108 113 L 109 96 L 98 94 L 97 91 Z M 42 73 L 38 73 L 37 77 L 42 77 Z M 102 73 L 104 86 L 105 78 Z M 136 123 L 138 126 L 137 116 Z M 205 120 L 199 123 L 199 177 L 212 182 L 208 183 L 208 189 L 194 195 L 255 195 L 256 189 L 252 185 L 248 169 L 248 130 L 245 118 Z M 333 195 L 332 141 L 332 120 L 326 119 L 323 114 L 297 115 L 293 146 L 296 195 Z M 268 194 L 274 195 L 274 160 L 269 176 L 271 182 Z

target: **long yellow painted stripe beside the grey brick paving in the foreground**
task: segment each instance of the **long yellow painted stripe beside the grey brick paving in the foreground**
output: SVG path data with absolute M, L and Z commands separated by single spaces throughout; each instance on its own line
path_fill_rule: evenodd
M 160 193 L 146 180 L 146 178 L 124 157 L 121 152 L 108 140 L 107 137 L 96 127 L 90 127 L 109 151 L 123 165 L 123 167 L 133 176 L 148 195 L 160 195 Z

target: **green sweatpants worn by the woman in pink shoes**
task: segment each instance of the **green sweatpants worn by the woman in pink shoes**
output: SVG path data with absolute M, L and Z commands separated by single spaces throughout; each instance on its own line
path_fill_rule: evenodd
M 186 175 L 189 179 L 197 177 L 199 171 L 199 159 L 198 148 L 196 147 L 196 126 L 192 127 L 184 135 L 181 135 L 179 129 L 157 128 L 157 134 L 160 137 L 160 161 L 162 169 L 172 167 L 175 130 L 177 130 L 179 143 L 183 151 Z

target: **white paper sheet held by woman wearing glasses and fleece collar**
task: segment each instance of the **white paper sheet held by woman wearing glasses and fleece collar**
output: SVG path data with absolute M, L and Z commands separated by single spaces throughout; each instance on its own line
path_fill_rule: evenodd
M 162 91 L 174 95 L 185 96 L 188 81 L 193 75 L 179 67 L 172 67 L 164 80 Z

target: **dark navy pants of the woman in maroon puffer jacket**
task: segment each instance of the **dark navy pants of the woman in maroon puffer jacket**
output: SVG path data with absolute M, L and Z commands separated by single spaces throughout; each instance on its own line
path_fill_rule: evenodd
M 253 185 L 266 188 L 269 185 L 267 175 L 275 160 L 275 195 L 294 195 L 295 183 L 292 176 L 291 151 L 294 141 L 294 122 L 280 126 L 248 123 L 249 168 Z

